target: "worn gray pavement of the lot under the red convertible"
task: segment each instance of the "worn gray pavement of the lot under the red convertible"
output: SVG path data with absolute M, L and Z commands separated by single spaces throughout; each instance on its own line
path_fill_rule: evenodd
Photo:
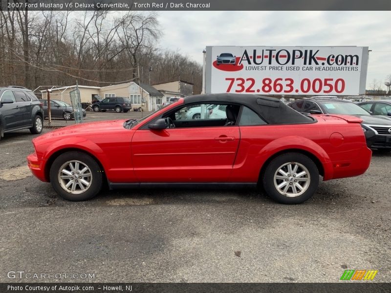
M 141 113 L 87 113 L 125 117 Z M 62 279 L 78 282 L 338 282 L 345 269 L 373 269 L 391 280 L 391 153 L 296 206 L 252 189 L 105 190 L 74 203 L 31 175 L 33 137 L 0 141 L 0 282 L 18 270 L 95 273 Z

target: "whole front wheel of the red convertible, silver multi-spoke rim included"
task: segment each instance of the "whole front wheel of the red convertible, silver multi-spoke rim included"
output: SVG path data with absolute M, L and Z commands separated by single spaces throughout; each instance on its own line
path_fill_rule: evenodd
M 66 152 L 50 167 L 50 182 L 66 200 L 82 201 L 93 198 L 102 188 L 103 172 L 98 163 L 85 153 Z

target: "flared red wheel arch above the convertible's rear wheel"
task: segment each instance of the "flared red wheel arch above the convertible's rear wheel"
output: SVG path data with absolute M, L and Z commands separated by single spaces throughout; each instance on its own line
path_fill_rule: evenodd
M 325 173 L 323 176 L 324 180 L 332 178 L 333 167 L 326 151 L 317 143 L 302 136 L 292 135 L 278 138 L 264 146 L 259 152 L 259 157 L 261 162 L 266 162 L 268 158 L 275 155 L 276 153 L 290 149 L 304 150 L 314 155 L 323 166 Z

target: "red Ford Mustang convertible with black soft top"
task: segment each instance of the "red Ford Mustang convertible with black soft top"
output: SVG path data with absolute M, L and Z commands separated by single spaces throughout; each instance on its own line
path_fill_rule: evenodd
M 225 117 L 210 118 L 221 105 Z M 199 119 L 186 115 L 192 107 L 200 107 Z M 27 161 L 36 177 L 72 201 L 94 197 L 107 181 L 111 189 L 258 186 L 280 203 L 297 204 L 315 193 L 319 175 L 329 180 L 367 170 L 371 151 L 360 122 L 304 116 L 257 95 L 195 95 L 142 119 L 51 131 L 33 140 Z

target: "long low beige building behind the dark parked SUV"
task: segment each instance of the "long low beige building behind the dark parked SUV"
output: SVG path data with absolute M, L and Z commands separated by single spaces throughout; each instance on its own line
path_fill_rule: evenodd
M 164 95 L 148 84 L 138 85 L 134 82 L 126 84 L 115 84 L 108 86 L 87 86 L 79 85 L 80 98 L 82 103 L 91 103 L 94 96 L 101 98 L 126 97 L 130 99 L 132 108 L 142 107 L 144 111 L 155 111 L 162 104 Z M 70 102 L 69 92 L 74 90 L 76 85 L 52 87 L 50 98 Z M 47 90 L 41 90 L 42 99 L 47 99 Z

